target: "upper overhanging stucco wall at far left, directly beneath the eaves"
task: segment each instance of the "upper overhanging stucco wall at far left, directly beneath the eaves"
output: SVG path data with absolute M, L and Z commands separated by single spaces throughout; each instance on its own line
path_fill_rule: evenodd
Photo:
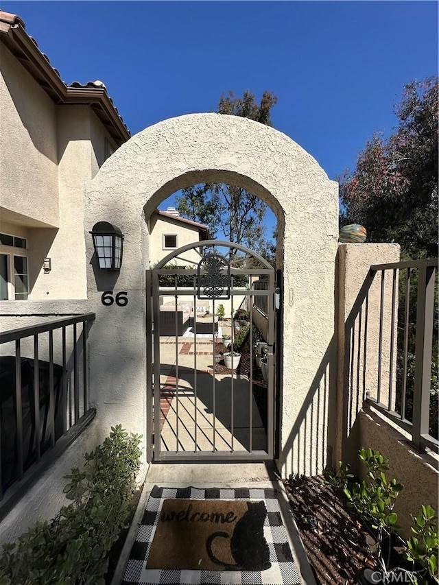
M 3 44 L 0 63 L 0 206 L 58 226 L 56 106 Z

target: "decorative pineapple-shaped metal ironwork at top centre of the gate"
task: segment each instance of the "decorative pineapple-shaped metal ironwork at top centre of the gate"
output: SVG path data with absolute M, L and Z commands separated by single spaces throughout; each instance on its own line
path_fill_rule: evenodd
M 198 263 L 197 297 L 230 298 L 230 264 L 221 254 L 205 254 Z

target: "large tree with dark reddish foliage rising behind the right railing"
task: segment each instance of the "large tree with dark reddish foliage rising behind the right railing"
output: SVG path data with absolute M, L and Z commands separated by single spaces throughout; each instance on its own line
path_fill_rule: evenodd
M 396 241 L 403 257 L 438 254 L 438 77 L 413 81 L 396 106 L 398 126 L 375 134 L 340 180 L 340 221 L 368 241 Z

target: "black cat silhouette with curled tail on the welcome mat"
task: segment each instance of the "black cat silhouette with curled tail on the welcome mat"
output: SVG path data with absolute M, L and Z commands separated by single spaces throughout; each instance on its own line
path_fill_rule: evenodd
M 270 549 L 263 536 L 263 523 L 267 510 L 263 501 L 247 502 L 247 512 L 235 526 L 232 536 L 227 532 L 213 532 L 206 540 L 206 552 L 212 562 L 231 571 L 265 571 L 270 569 Z M 230 552 L 236 564 L 216 558 L 212 544 L 216 538 L 230 539 Z M 223 541 L 224 542 L 224 541 Z

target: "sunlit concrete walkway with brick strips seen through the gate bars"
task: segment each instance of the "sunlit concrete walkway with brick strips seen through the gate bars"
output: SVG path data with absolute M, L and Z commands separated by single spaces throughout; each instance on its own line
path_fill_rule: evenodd
M 161 451 L 268 451 L 250 381 L 215 372 L 213 343 L 161 337 Z

